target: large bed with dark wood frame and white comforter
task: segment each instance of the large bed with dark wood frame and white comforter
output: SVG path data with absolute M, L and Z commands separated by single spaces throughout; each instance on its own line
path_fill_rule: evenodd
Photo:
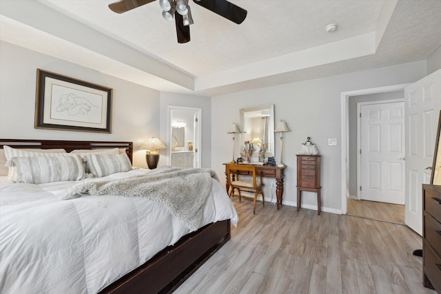
M 1 149 L 4 145 L 67 152 L 81 149 L 86 154 L 87 150 L 116 148 L 132 160 L 131 142 L 0 139 Z M 88 156 L 88 160 L 99 157 Z M 172 293 L 229 240 L 230 226 L 238 220 L 218 181 L 210 180 L 200 222 L 187 223 L 186 218 L 170 213 L 167 203 L 152 198 L 108 192 L 65 197 L 67 191 L 72 194 L 84 184 L 101 181 L 106 185 L 99 187 L 110 187 L 154 177 L 154 172 L 161 176 L 164 171 L 132 169 L 88 180 L 2 183 L 0 292 Z

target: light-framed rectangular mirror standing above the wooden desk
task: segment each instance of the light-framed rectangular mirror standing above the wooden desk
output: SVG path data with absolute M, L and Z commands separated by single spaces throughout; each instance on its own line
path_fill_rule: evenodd
M 240 127 L 240 151 L 245 148 L 245 142 L 259 139 L 267 145 L 267 154 L 274 154 L 274 105 L 261 105 L 256 107 L 241 108 Z M 258 150 L 254 150 L 258 151 Z

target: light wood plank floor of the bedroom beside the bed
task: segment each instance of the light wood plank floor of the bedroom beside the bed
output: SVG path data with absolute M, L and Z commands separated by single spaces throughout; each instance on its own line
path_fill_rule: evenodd
M 232 240 L 175 293 L 435 293 L 412 255 L 422 238 L 404 225 L 232 201 Z

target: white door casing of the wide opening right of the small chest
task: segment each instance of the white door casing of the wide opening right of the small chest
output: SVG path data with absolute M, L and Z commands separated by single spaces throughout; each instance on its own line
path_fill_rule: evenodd
M 359 96 L 365 94 L 375 94 L 383 92 L 393 92 L 404 90 L 404 87 L 411 85 L 411 83 L 400 85 L 389 85 L 384 87 L 375 87 L 363 90 L 354 90 L 341 93 L 341 138 L 342 138 L 342 153 L 341 153 L 341 193 L 342 193 L 342 214 L 347 214 L 347 198 L 349 198 L 349 98 L 351 96 Z

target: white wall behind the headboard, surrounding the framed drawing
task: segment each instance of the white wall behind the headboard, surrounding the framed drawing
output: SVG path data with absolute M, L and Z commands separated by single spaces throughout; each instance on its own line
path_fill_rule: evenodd
M 134 165 L 147 167 L 139 148 L 159 135 L 158 91 L 3 41 L 0 65 L 0 138 L 133 141 Z M 34 129 L 37 68 L 111 87 L 112 134 Z

